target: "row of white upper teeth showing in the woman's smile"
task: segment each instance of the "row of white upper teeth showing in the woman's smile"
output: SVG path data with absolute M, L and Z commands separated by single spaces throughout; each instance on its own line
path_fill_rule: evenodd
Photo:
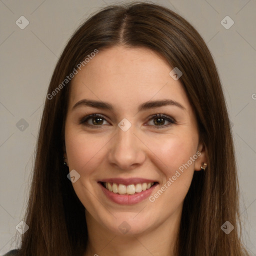
M 124 184 L 116 184 L 116 183 L 111 184 L 109 182 L 104 182 L 104 187 L 113 193 L 135 194 L 141 191 L 145 191 L 146 189 L 149 189 L 153 184 L 154 182 L 149 182 L 149 183 L 130 184 L 125 186 Z

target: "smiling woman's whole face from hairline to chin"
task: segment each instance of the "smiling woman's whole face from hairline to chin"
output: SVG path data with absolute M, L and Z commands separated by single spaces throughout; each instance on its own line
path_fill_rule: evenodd
M 177 221 L 205 162 L 195 114 L 171 69 L 147 48 L 116 46 L 99 50 L 71 81 L 64 156 L 72 185 L 86 220 L 113 233 Z

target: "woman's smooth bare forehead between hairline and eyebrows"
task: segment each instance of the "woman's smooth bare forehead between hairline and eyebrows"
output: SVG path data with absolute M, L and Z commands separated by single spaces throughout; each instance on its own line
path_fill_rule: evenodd
M 72 79 L 69 105 L 86 97 L 121 109 L 150 99 L 171 98 L 188 107 L 181 82 L 169 75 L 171 69 L 160 54 L 147 48 L 99 50 Z

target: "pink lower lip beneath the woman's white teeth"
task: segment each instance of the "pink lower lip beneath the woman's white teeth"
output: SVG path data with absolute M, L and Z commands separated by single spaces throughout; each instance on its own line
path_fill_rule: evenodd
M 100 182 L 99 182 L 99 185 L 102 191 L 104 192 L 104 194 L 106 195 L 106 197 L 112 200 L 113 202 L 119 203 L 119 204 L 136 204 L 146 199 L 152 193 L 152 190 L 157 185 L 157 183 L 152 185 L 150 188 L 146 189 L 145 191 L 141 191 L 139 193 L 130 194 L 130 195 L 126 195 L 126 194 L 121 195 L 121 194 L 113 193 L 113 192 L 110 192 L 108 189 L 106 189 Z

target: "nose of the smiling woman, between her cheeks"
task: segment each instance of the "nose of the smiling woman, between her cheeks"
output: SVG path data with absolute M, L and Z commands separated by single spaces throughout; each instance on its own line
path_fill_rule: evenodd
M 144 144 L 138 139 L 135 125 L 123 131 L 117 127 L 117 134 L 110 142 L 108 161 L 121 170 L 131 170 L 145 161 Z

